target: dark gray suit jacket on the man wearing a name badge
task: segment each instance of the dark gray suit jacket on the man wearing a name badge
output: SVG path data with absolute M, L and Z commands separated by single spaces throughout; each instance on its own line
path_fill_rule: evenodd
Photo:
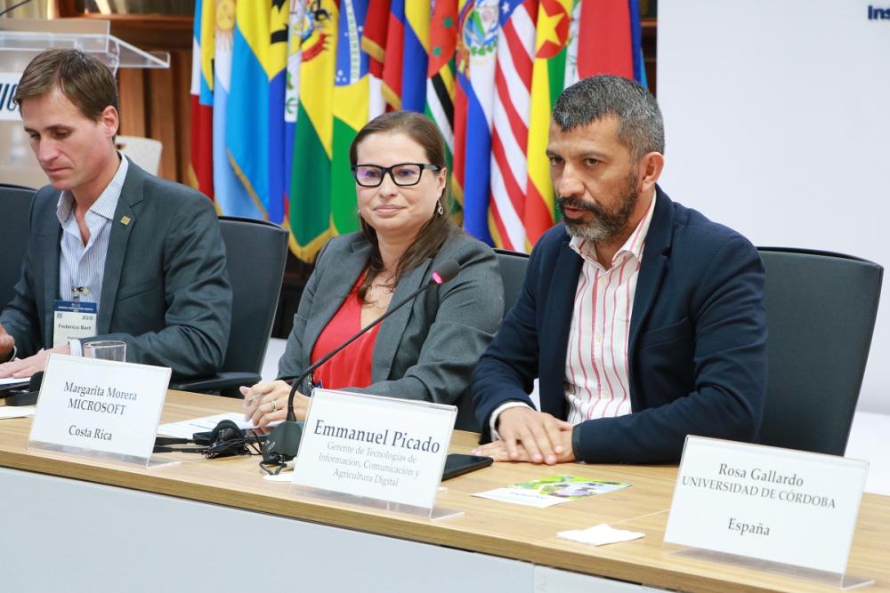
M 59 195 L 46 186 L 34 196 L 22 276 L 0 315 L 20 357 L 53 346 Z M 98 335 L 84 341 L 125 341 L 129 362 L 169 366 L 177 377 L 216 373 L 229 341 L 231 286 L 213 204 L 131 161 L 111 224 Z

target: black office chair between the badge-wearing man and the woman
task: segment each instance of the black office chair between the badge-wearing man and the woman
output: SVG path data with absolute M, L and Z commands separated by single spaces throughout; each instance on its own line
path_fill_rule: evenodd
M 206 379 L 174 381 L 170 389 L 239 397 L 260 381 L 287 262 L 287 231 L 277 224 L 220 217 L 232 289 L 231 334 L 223 370 Z

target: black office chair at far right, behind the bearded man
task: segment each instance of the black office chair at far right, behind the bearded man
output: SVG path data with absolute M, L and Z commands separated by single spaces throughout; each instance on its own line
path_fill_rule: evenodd
M 884 268 L 841 253 L 758 247 L 769 370 L 761 443 L 843 455 Z

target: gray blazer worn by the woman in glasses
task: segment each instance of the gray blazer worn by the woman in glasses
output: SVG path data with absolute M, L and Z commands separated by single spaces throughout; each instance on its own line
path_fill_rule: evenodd
M 322 249 L 294 316 L 279 377 L 292 378 L 309 366 L 315 341 L 367 267 L 370 251 L 359 233 L 337 236 Z M 424 285 L 445 260 L 457 260 L 460 272 L 382 322 L 374 345 L 371 385 L 351 390 L 458 405 L 458 426 L 470 428 L 475 425 L 470 374 L 504 314 L 504 288 L 494 252 L 458 232 L 435 258 L 401 278 L 392 303 Z M 309 393 L 308 384 L 301 391 Z

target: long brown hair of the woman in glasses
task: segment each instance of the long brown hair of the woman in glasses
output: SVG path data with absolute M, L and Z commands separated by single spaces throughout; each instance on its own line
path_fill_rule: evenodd
M 349 162 L 352 165 L 358 163 L 358 147 L 362 140 L 376 133 L 402 133 L 414 140 L 424 148 L 426 158 L 430 164 L 446 167 L 445 139 L 436 124 L 425 116 L 413 111 L 390 111 L 382 116 L 376 116 L 361 128 L 352 140 L 349 147 Z M 423 173 L 422 173 L 423 174 Z M 393 286 L 399 284 L 401 276 L 409 269 L 417 268 L 426 258 L 433 258 L 445 244 L 451 234 L 457 232 L 457 227 L 449 220 L 449 188 L 450 175 L 445 177 L 445 188 L 439 196 L 439 204 L 442 213 L 437 209 L 433 212 L 433 218 L 428 220 L 414 243 L 402 253 L 396 264 L 395 274 L 392 276 Z M 364 219 L 360 220 L 361 233 L 371 245 L 371 258 L 368 261 L 368 274 L 359 286 L 359 297 L 365 300 L 365 295 L 371 287 L 374 278 L 384 271 L 384 260 L 380 255 L 380 246 L 377 244 L 377 232 Z

